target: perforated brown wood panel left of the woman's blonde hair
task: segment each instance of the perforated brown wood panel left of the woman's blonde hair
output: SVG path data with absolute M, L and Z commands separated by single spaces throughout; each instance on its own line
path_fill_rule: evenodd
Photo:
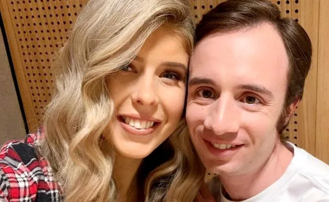
M 51 99 L 52 54 L 67 39 L 82 0 L 2 0 L 1 14 L 28 127 L 39 125 Z

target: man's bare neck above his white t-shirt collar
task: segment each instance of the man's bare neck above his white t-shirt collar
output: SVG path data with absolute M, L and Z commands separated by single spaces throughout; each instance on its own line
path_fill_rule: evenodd
M 253 173 L 237 176 L 220 176 L 222 185 L 231 200 L 250 199 L 275 183 L 286 171 L 293 153 L 278 142 L 271 157 Z

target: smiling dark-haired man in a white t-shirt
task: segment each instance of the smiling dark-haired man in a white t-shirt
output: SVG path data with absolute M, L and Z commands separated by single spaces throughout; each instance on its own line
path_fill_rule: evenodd
M 196 37 L 186 119 L 218 174 L 196 201 L 329 202 L 329 166 L 281 138 L 311 66 L 305 30 L 271 2 L 228 0 Z

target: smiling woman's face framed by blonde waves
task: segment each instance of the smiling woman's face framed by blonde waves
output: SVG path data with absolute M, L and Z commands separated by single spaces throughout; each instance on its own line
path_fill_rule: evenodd
M 110 137 L 119 155 L 142 159 L 181 120 L 189 56 L 179 35 L 158 28 L 119 73 L 107 81 L 116 107 Z

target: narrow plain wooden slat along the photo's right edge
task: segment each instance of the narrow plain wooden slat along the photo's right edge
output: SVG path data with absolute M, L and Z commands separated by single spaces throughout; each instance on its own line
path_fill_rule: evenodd
M 320 0 L 316 157 L 329 164 L 329 1 Z

